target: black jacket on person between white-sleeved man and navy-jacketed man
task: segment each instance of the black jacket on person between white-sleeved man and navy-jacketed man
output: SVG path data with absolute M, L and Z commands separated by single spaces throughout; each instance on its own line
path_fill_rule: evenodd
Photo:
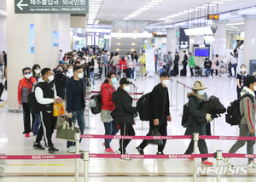
M 63 74 L 55 74 L 54 82 L 55 82 L 56 92 L 57 92 L 57 95 L 62 100 L 65 100 L 65 86 L 68 78 L 69 77 Z

